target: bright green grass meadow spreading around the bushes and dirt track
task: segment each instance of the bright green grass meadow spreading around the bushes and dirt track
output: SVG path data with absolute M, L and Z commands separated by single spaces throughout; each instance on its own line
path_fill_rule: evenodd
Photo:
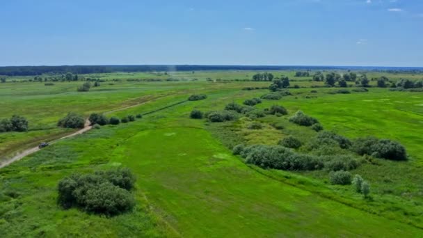
M 191 75 L 192 73 L 185 73 Z M 211 82 L 225 74 L 235 79 L 246 72 L 195 72 L 198 81 L 102 83 L 77 93 L 77 83 L 0 85 L 0 112 L 30 121 L 30 132 L 0 134 L 0 149 L 20 148 L 34 134 L 62 134 L 55 125 L 68 111 L 88 116 L 149 113 L 136 122 L 107 125 L 68 138 L 0 169 L 1 237 L 421 237 L 423 234 L 423 97 L 421 93 L 370 88 L 367 93 L 329 94 L 333 88 L 308 79 L 292 82 L 304 88 L 293 95 L 263 100 L 257 108 L 285 106 L 288 116 L 266 116 L 280 122 L 251 131 L 241 122 L 208 123 L 189 118 L 192 109 L 223 109 L 268 90 L 268 82 Z M 248 72 L 248 74 L 250 74 Z M 114 74 L 113 77 L 118 77 Z M 186 76 L 188 77 L 188 76 Z M 416 77 L 417 78 L 417 77 Z M 318 93 L 310 93 L 310 90 Z M 193 93 L 206 100 L 184 102 Z M 145 102 L 145 103 L 144 103 Z M 176 104 L 181 102 L 180 104 Z M 143 104 L 142 104 L 143 103 Z M 113 111 L 114 109 L 130 108 Z M 301 109 L 327 130 L 349 138 L 374 135 L 406 146 L 405 162 L 378 159 L 359 173 L 372 185 L 364 200 L 351 187 L 329 185 L 328 172 L 287 172 L 247 166 L 225 145 L 234 136 L 247 143 L 273 145 L 287 134 L 306 140 L 316 132 L 287 120 Z M 237 134 L 230 134 L 236 128 Z M 228 134 L 225 134 L 227 133 Z M 0 152 L 0 154 L 2 154 Z M 56 205 L 58 181 L 70 173 L 126 166 L 137 176 L 136 209 L 107 218 Z

